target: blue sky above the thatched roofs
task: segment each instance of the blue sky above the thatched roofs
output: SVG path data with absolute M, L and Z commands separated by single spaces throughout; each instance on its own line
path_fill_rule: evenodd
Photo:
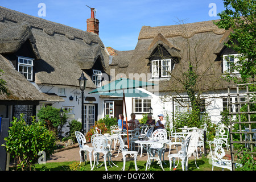
M 46 5 L 46 16 L 39 17 L 39 3 Z M 169 26 L 179 19 L 185 23 L 218 19 L 209 15 L 213 12 L 210 3 L 216 5 L 217 13 L 224 10 L 222 0 L 1 0 L 0 6 L 84 31 L 89 7 L 94 7 L 104 45 L 128 51 L 136 47 L 142 26 Z

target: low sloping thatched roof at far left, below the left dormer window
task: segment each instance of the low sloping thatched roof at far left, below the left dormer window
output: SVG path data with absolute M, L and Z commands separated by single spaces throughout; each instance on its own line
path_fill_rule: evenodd
M 1 79 L 6 81 L 10 96 L 0 94 L 0 101 L 41 101 L 48 98 L 40 93 L 22 74 L 17 72 L 5 57 L 0 55 Z

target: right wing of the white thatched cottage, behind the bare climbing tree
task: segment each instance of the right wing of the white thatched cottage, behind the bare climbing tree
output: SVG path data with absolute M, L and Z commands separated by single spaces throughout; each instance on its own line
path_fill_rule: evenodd
M 212 21 L 173 26 L 143 26 L 139 32 L 134 50 L 117 51 L 108 48 L 113 55 L 110 69 L 118 77 L 153 81 L 158 88 L 152 88 L 151 98 L 133 98 L 128 107 L 133 108 L 138 118 L 153 109 L 154 118 L 162 113 L 170 119 L 182 111 L 189 111 L 191 104 L 185 82 L 189 62 L 197 74 L 195 90 L 200 94 L 202 113 L 208 112 L 210 119 L 218 123 L 221 111 L 227 109 L 227 89 L 230 83 L 222 76 L 231 70 L 234 63 L 232 49 L 224 46 L 230 31 L 219 29 Z M 230 56 L 231 55 L 231 56 Z M 233 88 L 231 86 L 231 88 Z M 231 89 L 230 92 L 236 92 Z M 231 100 L 236 101 L 233 97 Z M 244 98 L 240 98 L 243 100 Z M 115 105 L 116 101 L 112 101 Z M 238 105 L 233 105 L 233 111 Z M 130 114 L 130 112 L 129 112 Z

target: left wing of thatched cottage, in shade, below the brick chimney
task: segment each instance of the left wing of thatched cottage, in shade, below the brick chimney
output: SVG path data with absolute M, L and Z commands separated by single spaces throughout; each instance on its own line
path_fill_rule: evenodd
M 100 97 L 87 93 L 108 80 L 109 54 L 94 32 L 0 7 L 0 65 L 11 95 L 0 96 L 0 115 L 35 114 L 52 105 L 81 121 L 78 79 L 88 79 L 84 93 L 86 130 L 102 117 Z

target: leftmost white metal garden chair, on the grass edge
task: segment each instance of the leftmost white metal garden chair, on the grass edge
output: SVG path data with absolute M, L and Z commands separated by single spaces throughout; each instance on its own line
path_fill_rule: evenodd
M 89 159 L 90 159 L 90 168 L 92 168 L 92 151 L 93 151 L 93 147 L 89 147 L 88 145 L 86 145 L 86 139 L 84 137 L 84 135 L 80 132 L 80 131 L 75 131 L 75 135 L 76 135 L 76 139 L 77 142 L 79 144 L 79 154 L 80 154 L 80 164 L 82 162 L 82 151 L 85 151 L 85 161 L 87 158 L 87 152 L 89 152 Z M 79 164 L 79 165 L 80 165 Z

